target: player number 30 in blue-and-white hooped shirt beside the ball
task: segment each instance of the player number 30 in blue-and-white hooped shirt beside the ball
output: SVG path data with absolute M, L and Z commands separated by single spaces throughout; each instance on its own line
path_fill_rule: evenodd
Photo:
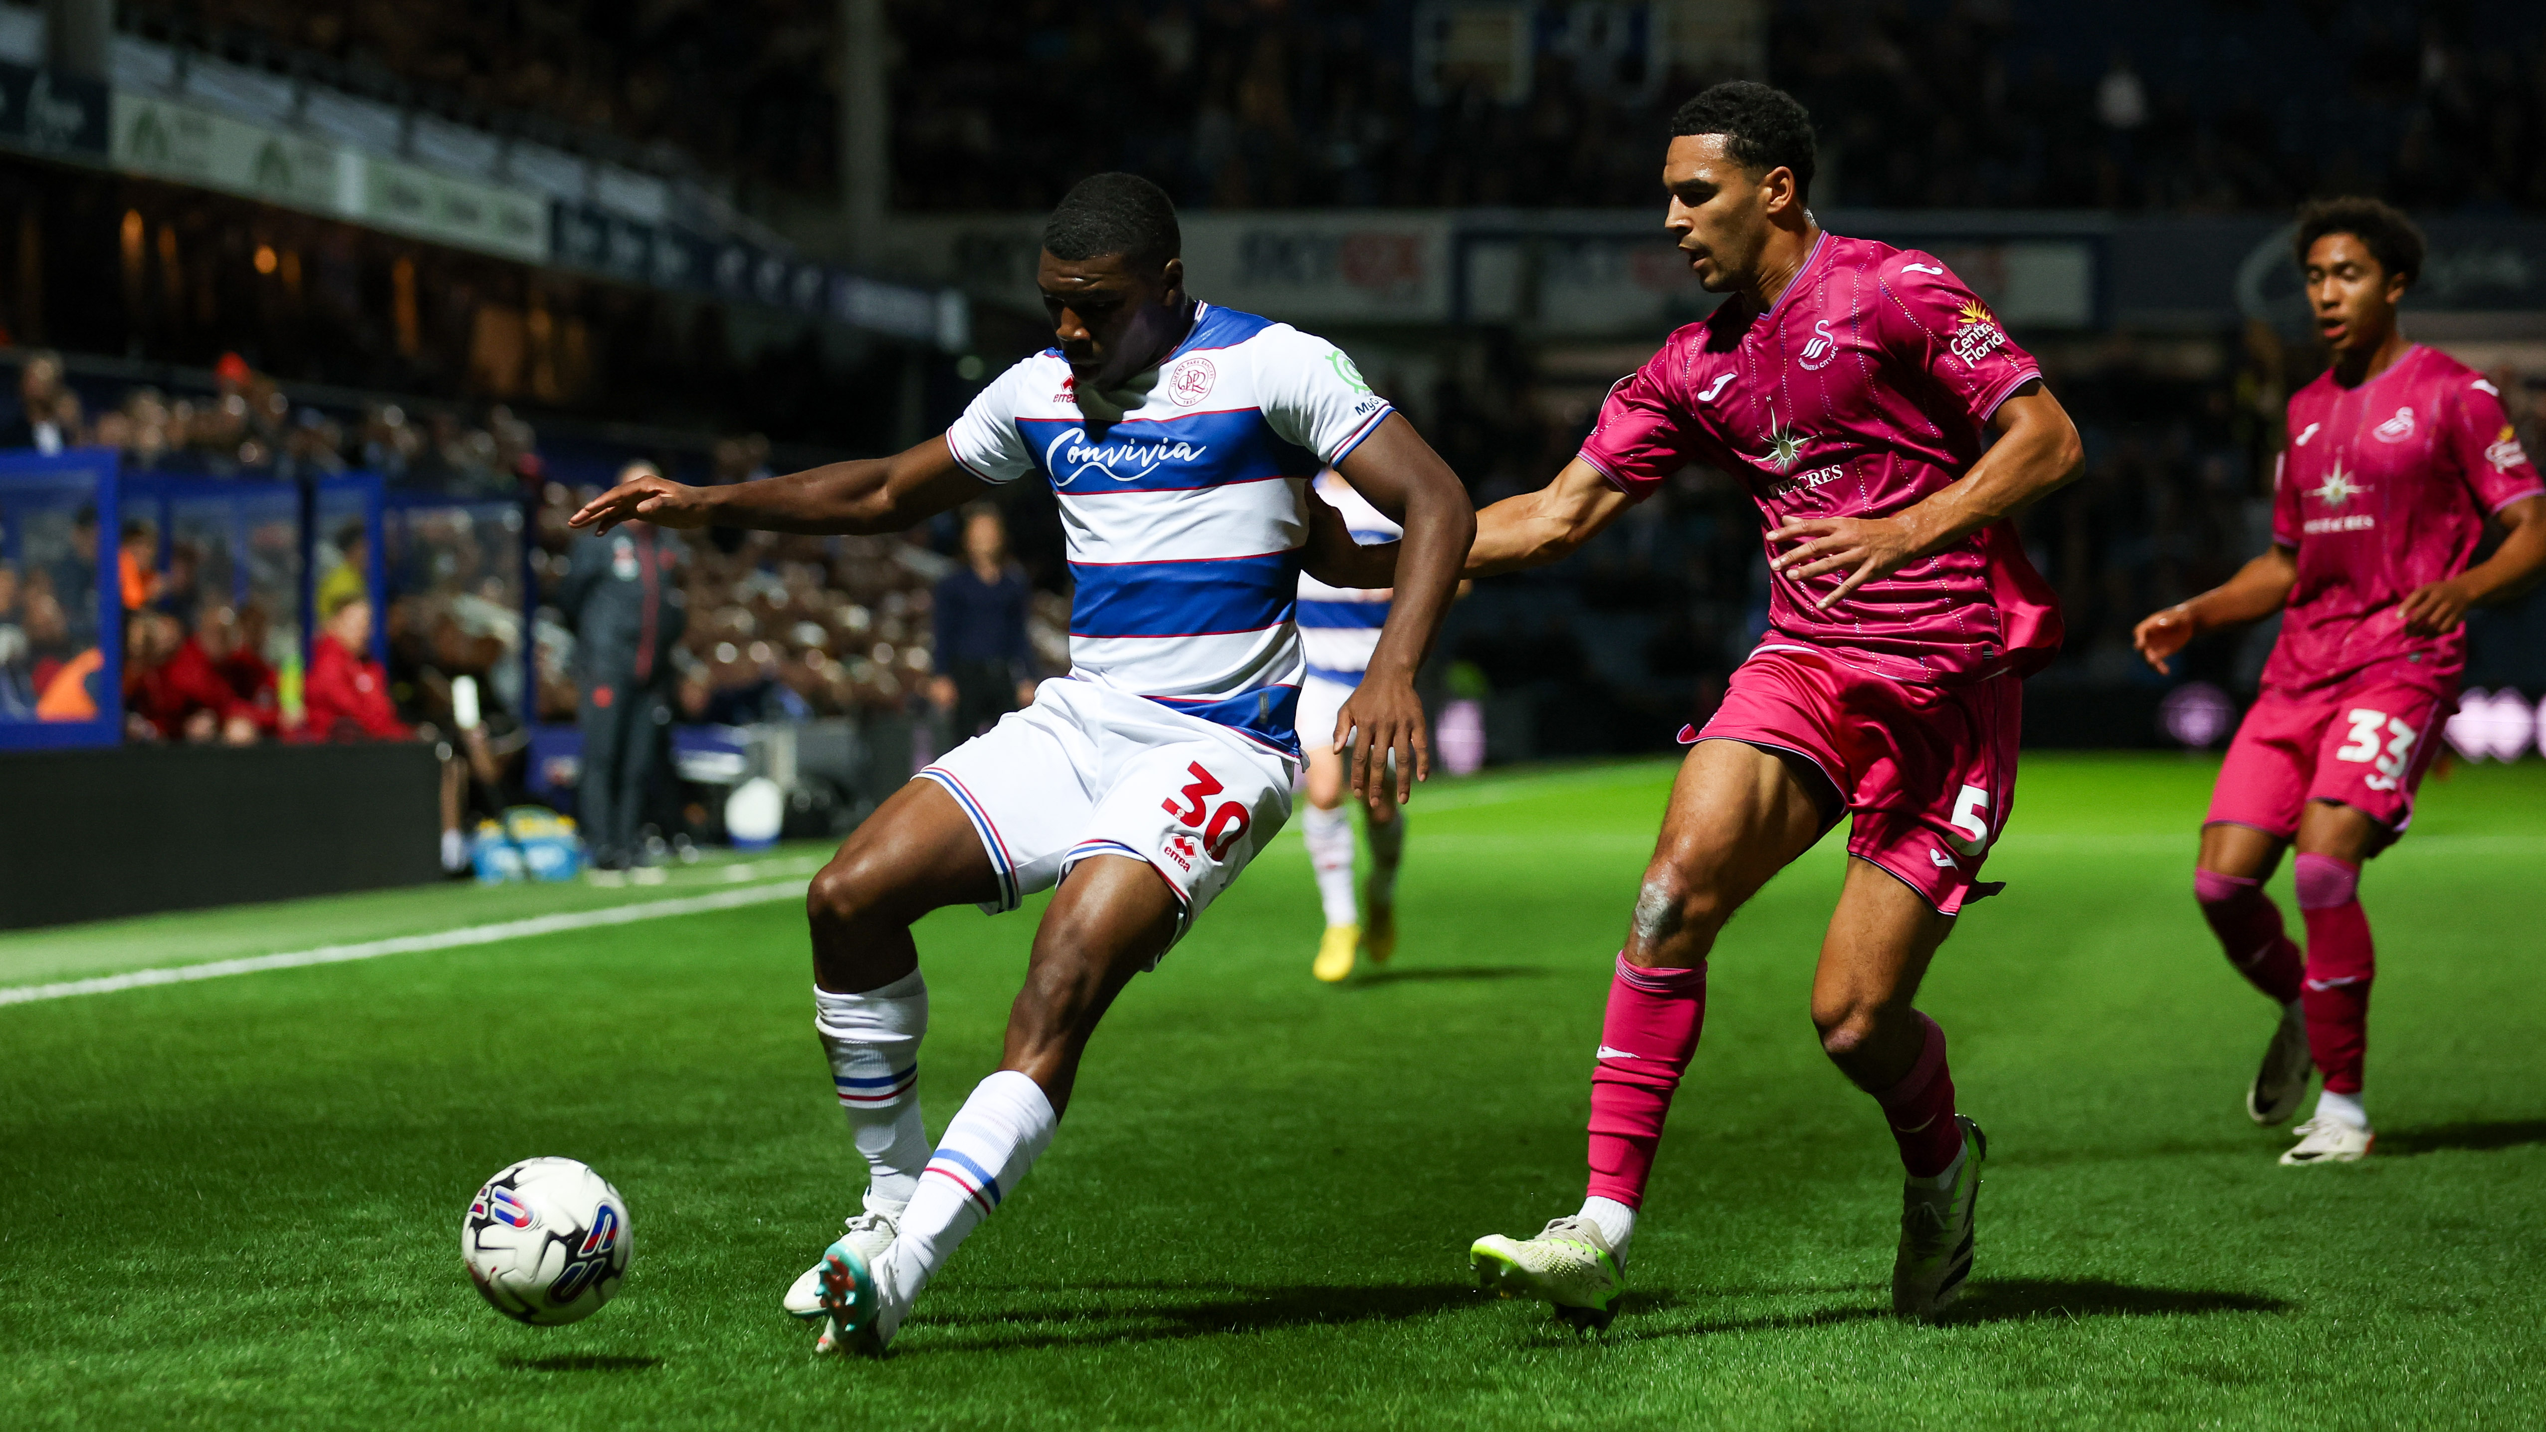
M 848 1233 L 787 1292 L 789 1312 L 822 1322 L 825 1350 L 883 1350 L 1051 1142 L 1105 1006 L 1291 815 L 1296 581 L 1372 571 L 1309 499 L 1321 466 L 1405 527 L 1370 670 L 1321 739 L 1344 747 L 1349 731 L 1365 798 L 1395 764 L 1403 803 L 1431 762 L 1413 675 L 1474 535 L 1449 466 L 1334 344 L 1186 298 L 1176 211 L 1146 178 L 1080 181 L 1044 227 L 1036 283 L 1059 344 L 990 382 L 942 438 L 733 487 L 647 476 L 573 517 L 896 533 L 1026 474 L 1062 505 L 1069 678 L 904 785 L 805 899 L 815 1032 L 871 1175 Z M 911 922 L 947 905 L 1013 910 L 1054 884 L 1001 1068 L 932 1152 Z

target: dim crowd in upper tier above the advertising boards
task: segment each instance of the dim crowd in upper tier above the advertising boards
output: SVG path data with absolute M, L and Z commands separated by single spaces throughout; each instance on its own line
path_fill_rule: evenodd
M 1220 209 L 1647 204 L 1670 104 L 1721 76 L 1650 74 L 1632 36 L 1655 10 L 1540 5 L 1528 94 L 1505 104 L 1418 82 L 1408 5 L 889 0 L 894 204 L 1041 209 L 1095 168 Z M 2533 13 L 2500 33 L 2485 20 L 2513 8 L 2156 0 L 2156 23 L 2103 51 L 2126 33 L 2108 15 L 2016 0 L 1764 10 L 1767 79 L 1813 107 L 1833 155 L 1825 204 L 2281 209 L 2340 189 L 2546 206 Z M 746 201 L 838 183 L 838 0 L 137 13 L 672 145 Z M 1551 41 L 1556 20 L 1584 33 Z

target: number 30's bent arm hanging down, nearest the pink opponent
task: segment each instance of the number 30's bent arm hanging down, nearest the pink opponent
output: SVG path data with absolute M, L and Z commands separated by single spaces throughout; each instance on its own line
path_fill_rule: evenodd
M 1416 696 L 1416 670 L 1441 637 L 1459 563 L 1477 535 L 1477 510 L 1459 474 L 1431 451 L 1413 423 L 1390 413 L 1362 446 L 1337 464 L 1344 482 L 1372 507 L 1405 527 L 1395 543 L 1395 599 L 1388 624 L 1370 652 L 1370 670 L 1334 719 L 1337 749 L 1352 736 L 1352 790 L 1365 800 L 1380 795 L 1388 780 L 1385 759 L 1398 762 L 1398 803 L 1413 798 L 1413 782 L 1431 775 L 1431 734 L 1423 701 Z

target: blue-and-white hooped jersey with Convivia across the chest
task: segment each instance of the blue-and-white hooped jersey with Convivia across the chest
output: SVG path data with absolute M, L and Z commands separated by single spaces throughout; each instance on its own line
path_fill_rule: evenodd
M 1388 413 L 1326 339 L 1197 303 L 1184 344 L 1118 392 L 1077 392 L 1059 349 L 1018 362 L 947 428 L 947 448 L 983 482 L 1051 482 L 1069 533 L 1072 678 L 1296 757 L 1309 479 Z

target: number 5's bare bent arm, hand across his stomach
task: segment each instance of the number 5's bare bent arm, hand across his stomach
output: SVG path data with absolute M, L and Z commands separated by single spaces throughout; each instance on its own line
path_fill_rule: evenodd
M 1813 606 L 1828 609 L 1859 586 L 1940 553 L 1981 527 L 2014 517 L 2078 476 L 2085 446 L 2060 400 L 2027 382 L 1988 415 L 1999 441 L 1958 482 L 1892 517 L 1805 517 L 1772 530 L 1772 543 L 1795 543 L 1769 568 L 1810 581 L 1846 571 Z

